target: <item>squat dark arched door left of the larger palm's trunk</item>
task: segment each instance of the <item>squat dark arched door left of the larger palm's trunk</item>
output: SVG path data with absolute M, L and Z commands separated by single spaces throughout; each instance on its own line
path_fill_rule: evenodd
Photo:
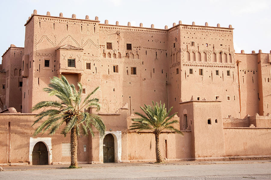
M 35 144 L 32 152 L 32 165 L 48 164 L 48 150 L 43 142 Z

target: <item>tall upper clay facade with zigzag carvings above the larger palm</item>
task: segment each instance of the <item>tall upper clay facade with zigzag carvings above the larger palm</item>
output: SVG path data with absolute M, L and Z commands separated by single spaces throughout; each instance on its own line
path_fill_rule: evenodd
M 32 23 L 33 21 L 35 23 Z M 167 31 L 98 22 L 61 17 L 48 18 L 48 16 L 33 16 L 29 20 L 26 26 L 33 24 L 35 39 L 34 68 L 30 70 L 32 73 L 30 72 L 27 78 L 31 79 L 33 74 L 35 83 L 32 91 L 35 93 L 32 95 L 28 87 L 24 90 L 26 91 L 24 101 L 28 104 L 24 112 L 30 112 L 31 106 L 41 98 L 47 98 L 42 88 L 49 83 L 49 77 L 57 76 L 59 72 L 63 75 L 74 73 L 73 76 L 81 74 L 79 79 L 86 88 L 86 93 L 100 86 L 101 89 L 96 96 L 101 101 L 103 107 L 101 112 L 104 113 L 114 113 L 126 103 L 129 103 L 130 113 L 133 113 L 140 111 L 139 106 L 150 104 L 151 101 L 165 102 L 164 61 L 167 50 L 163 47 L 167 43 Z M 107 42 L 112 43 L 112 49 L 107 49 Z M 132 44 L 131 51 L 127 50 L 127 43 Z M 58 47 L 65 44 L 83 48 L 82 55 L 72 50 L 59 54 L 55 52 Z M 49 68 L 44 68 L 42 64 L 45 58 L 50 59 Z M 67 58 L 75 58 L 76 63 L 82 64 L 83 71 L 77 66 L 72 72 L 68 68 L 61 68 L 59 71 L 59 64 L 63 64 Z M 86 69 L 86 63 L 90 63 L 90 69 Z M 114 72 L 114 65 L 117 66 L 118 72 Z M 131 67 L 136 67 L 135 75 L 131 74 Z M 146 93 L 147 91 L 153 93 Z

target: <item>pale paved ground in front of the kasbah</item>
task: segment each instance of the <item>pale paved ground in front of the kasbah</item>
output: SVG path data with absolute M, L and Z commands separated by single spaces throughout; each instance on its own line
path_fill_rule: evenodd
M 189 161 L 188 161 L 189 162 Z M 235 162 L 235 163 L 232 163 Z M 244 162 L 244 161 L 243 161 Z M 209 162 L 208 162 L 209 163 Z M 213 161 L 212 161 L 213 163 Z M 189 163 L 187 163 L 189 164 Z M 66 165 L 67 167 L 68 165 Z M 81 166 L 81 165 L 80 165 Z M 3 167 L 0 179 L 128 179 L 128 180 L 169 180 L 169 179 L 271 179 L 271 163 L 269 161 L 223 161 L 223 164 L 201 164 L 196 162 L 189 165 L 179 164 L 106 164 L 88 165 L 81 169 L 64 169 L 63 165 L 57 165 L 58 169 L 20 170 Z M 29 166 L 31 167 L 31 166 Z M 33 166 L 32 166 L 33 167 Z M 9 171 L 7 171 L 9 170 Z

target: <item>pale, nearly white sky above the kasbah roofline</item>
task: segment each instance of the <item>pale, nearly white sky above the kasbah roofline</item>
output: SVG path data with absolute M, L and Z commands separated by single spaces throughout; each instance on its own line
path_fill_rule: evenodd
M 178 24 L 192 24 L 234 28 L 233 42 L 236 53 L 241 49 L 245 53 L 252 50 L 264 53 L 271 50 L 271 1 L 270 0 L 0 0 L 0 54 L 2 55 L 10 44 L 24 46 L 24 24 L 36 9 L 38 14 L 71 18 L 76 14 L 77 19 L 99 17 L 101 23 L 107 19 L 109 24 L 139 26 L 164 29 Z M 2 61 L 2 58 L 0 58 Z

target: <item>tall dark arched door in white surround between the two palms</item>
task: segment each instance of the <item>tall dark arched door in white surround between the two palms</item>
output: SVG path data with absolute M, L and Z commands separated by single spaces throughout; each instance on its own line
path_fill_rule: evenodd
M 114 137 L 112 134 L 105 135 L 103 142 L 103 152 L 104 152 L 104 163 L 115 162 Z

